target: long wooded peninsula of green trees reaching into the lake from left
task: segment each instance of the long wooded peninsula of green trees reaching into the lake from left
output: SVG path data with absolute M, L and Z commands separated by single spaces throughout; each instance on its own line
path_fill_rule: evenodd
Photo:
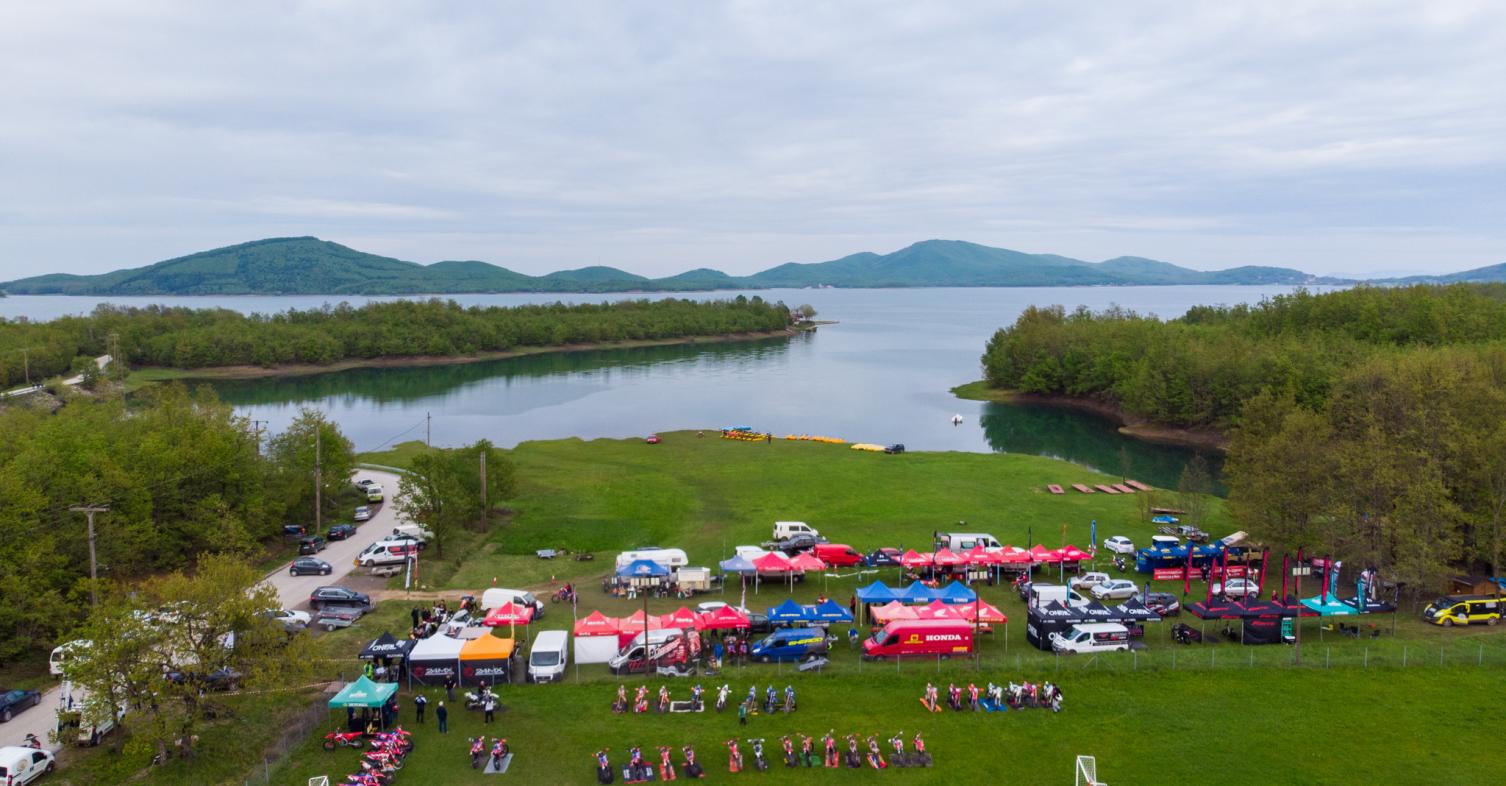
M 104 304 L 48 322 L 0 319 L 0 388 L 77 370 L 111 346 L 130 366 L 200 369 L 764 333 L 789 322 L 785 304 L 756 295 L 517 307 L 399 300 L 273 315 Z

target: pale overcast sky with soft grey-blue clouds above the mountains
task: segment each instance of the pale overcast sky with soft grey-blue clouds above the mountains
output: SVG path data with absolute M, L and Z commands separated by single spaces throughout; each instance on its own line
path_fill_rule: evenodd
M 5 3 L 0 107 L 0 280 L 288 235 L 533 274 L 1506 262 L 1500 2 Z

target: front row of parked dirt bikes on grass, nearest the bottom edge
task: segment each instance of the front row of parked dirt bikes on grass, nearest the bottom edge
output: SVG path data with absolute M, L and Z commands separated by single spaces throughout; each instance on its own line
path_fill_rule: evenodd
M 795 736 L 800 741 L 795 741 Z M 931 766 L 931 754 L 926 753 L 926 742 L 917 732 L 911 738 L 910 750 L 905 750 L 905 733 L 899 732 L 889 738 L 890 753 L 886 757 L 883 747 L 878 742 L 876 735 L 869 735 L 863 745 L 858 744 L 858 735 L 846 735 L 846 748 L 837 742 L 837 735 L 834 730 L 827 732 L 821 738 L 821 751 L 816 750 L 816 739 L 807 735 L 785 735 L 779 738 L 780 747 L 783 748 L 783 759 L 786 768 L 842 768 L 861 769 L 867 765 L 872 769 L 887 769 L 890 766 Z M 751 760 L 742 753 L 742 744 L 748 745 L 751 753 Z M 753 739 L 727 739 L 727 772 L 742 772 L 751 768 L 756 772 L 764 772 L 770 768 L 770 760 L 764 753 L 765 738 Z M 676 768 L 673 760 L 673 748 L 669 745 L 661 745 L 658 748 L 658 778 L 660 780 L 678 780 L 679 774 L 687 778 L 703 778 L 706 777 L 705 768 L 696 762 L 696 750 L 690 745 L 679 748 L 684 762 Z M 611 766 L 611 759 L 608 756 L 610 748 L 602 748 L 595 753 L 596 760 L 596 783 L 613 783 L 616 780 L 616 772 Z M 628 748 L 628 763 L 622 768 L 623 783 L 645 783 L 655 777 L 655 766 L 645 759 L 643 748 L 634 745 Z

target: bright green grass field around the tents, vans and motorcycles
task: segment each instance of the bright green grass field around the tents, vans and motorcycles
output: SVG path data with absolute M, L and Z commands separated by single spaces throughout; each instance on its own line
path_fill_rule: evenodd
M 425 571 L 443 589 L 477 592 L 491 586 L 529 587 L 541 596 L 560 581 L 577 581 L 580 613 L 593 608 L 622 616 L 642 601 L 610 598 L 598 578 L 616 551 L 645 544 L 682 547 L 697 565 L 714 565 L 733 545 L 756 544 L 776 519 L 801 519 L 836 542 L 861 550 L 880 545 L 926 548 L 932 530 L 989 532 L 1006 542 L 1032 539 L 1087 545 L 1089 521 L 1098 538 L 1128 535 L 1140 542 L 1152 527 L 1142 519 L 1140 495 L 1051 495 L 1045 483 L 1102 482 L 1107 477 L 1044 458 L 973 453 L 910 453 L 884 456 L 840 446 L 774 441 L 745 444 L 694 432 L 666 434 L 664 443 L 636 440 L 562 440 L 526 443 L 512 452 L 520 489 L 511 518 L 489 533 L 465 533 L 440 569 Z M 398 446 L 363 461 L 402 465 L 413 446 Z M 1113 479 L 1117 480 L 1117 479 Z M 1172 503 L 1172 495 L 1161 500 Z M 1233 526 L 1220 500 L 1208 500 L 1205 529 L 1224 535 Z M 596 556 L 592 562 L 539 560 L 536 548 L 569 548 Z M 1099 568 L 1104 568 L 1099 565 Z M 1111 572 L 1111 571 L 1110 571 Z M 551 577 L 554 584 L 551 584 Z M 794 596 L 812 601 L 827 593 L 846 601 L 875 578 L 893 583 L 896 571 L 816 578 L 800 583 Z M 1179 586 L 1160 589 L 1181 592 Z M 474 772 L 465 756 L 468 735 L 482 732 L 479 714 L 453 708 L 447 738 L 434 732 L 432 709 L 441 691 L 429 691 L 431 720 L 417 729 L 419 748 L 398 784 L 465 783 L 593 783 L 592 751 L 613 750 L 620 763 L 630 745 L 657 757 L 658 745 L 693 744 L 708 780 L 755 778 L 804 783 L 827 778 L 898 778 L 907 783 L 1071 783 L 1072 757 L 1099 757 L 1099 775 L 1128 783 L 1482 783 L 1500 777 L 1506 750 L 1491 742 L 1498 723 L 1506 676 L 1506 635 L 1498 628 L 1441 629 L 1414 614 L 1373 620 L 1376 638 L 1336 637 L 1319 620 L 1304 620 L 1303 664 L 1292 647 L 1245 647 L 1217 641 L 1184 647 L 1169 640 L 1169 623 L 1151 625 L 1140 653 L 1057 658 L 1024 640 L 1024 605 L 1008 587 L 982 587 L 983 599 L 1005 610 L 1011 623 L 980 638 L 977 658 L 864 664 L 845 643 L 821 675 L 792 675 L 789 666 L 730 667 L 717 678 L 700 676 L 708 696 L 727 682 L 733 696 L 750 685 L 795 685 L 801 709 L 785 717 L 756 717 L 736 727 L 735 715 L 622 717 L 608 709 L 617 678 L 602 666 L 572 667 L 560 685 L 503 688 L 508 711 L 488 730 L 508 736 L 517 751 L 512 772 L 492 778 Z M 1202 584 L 1193 584 L 1200 596 Z M 1312 592 L 1307 592 L 1309 595 Z M 741 587 L 700 599 L 736 601 Z M 764 584 L 747 589 L 747 605 L 774 605 L 791 592 Z M 691 604 L 696 601 L 690 601 Z M 682 601 L 655 599 L 652 613 Z M 401 634 L 413 602 L 392 599 L 348 631 L 319 638 L 327 675 L 352 676 L 354 653 L 384 629 Z M 1196 623 L 1196 620 L 1188 620 Z M 1370 623 L 1372 620 L 1366 620 Z M 539 629 L 569 628 L 568 605 L 553 604 L 524 637 Z M 1395 632 L 1393 632 L 1395 625 Z M 1217 640 L 1217 623 L 1208 632 Z M 1369 628 L 1366 629 L 1369 632 Z M 922 712 L 917 702 L 926 681 L 980 685 L 989 681 L 1054 681 L 1066 706 L 1006 714 Z M 685 697 L 694 681 L 672 684 Z M 626 679 L 649 685 L 660 679 Z M 206 735 L 211 753 L 196 762 L 175 762 L 154 771 L 146 783 L 265 783 L 261 756 L 273 750 L 279 727 L 306 711 L 316 697 L 280 694 L 267 700 L 232 702 L 236 720 Z M 413 726 L 411 694 L 402 694 L 402 720 Z M 270 783 L 304 784 L 328 774 L 339 781 L 355 768 L 351 751 L 325 753 L 322 733 L 342 720 L 328 714 L 321 727 L 295 742 Z M 804 732 L 880 735 L 923 732 L 937 766 L 928 771 L 861 772 L 785 771 L 774 763 L 765 774 L 726 772 L 723 741 L 764 736 L 777 757 L 777 738 Z M 747 747 L 744 747 L 747 753 Z M 142 766 L 89 756 L 66 783 L 111 783 Z M 95 759 L 113 765 L 92 763 Z M 679 757 L 676 756 L 676 760 Z M 98 775 L 96 778 L 90 775 Z M 108 777 L 107 777 L 108 775 Z M 986 780 L 985 780 L 986 778 Z M 620 781 L 619 781 L 620 783 Z

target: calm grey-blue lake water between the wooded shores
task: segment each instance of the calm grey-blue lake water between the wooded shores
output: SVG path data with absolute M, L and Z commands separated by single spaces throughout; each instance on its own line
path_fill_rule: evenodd
M 959 401 L 949 388 L 979 379 L 983 342 L 1030 304 L 1060 303 L 1178 316 L 1194 304 L 1254 303 L 1289 288 L 1139 286 L 1032 289 L 773 289 L 810 303 L 824 325 L 794 339 L 520 357 L 462 366 L 355 369 L 292 379 L 218 382 L 245 416 L 283 428 L 301 407 L 328 413 L 360 450 L 425 435 L 435 444 L 486 437 L 512 446 L 559 437 L 634 437 L 655 431 L 751 426 L 911 450 L 1057 456 L 1175 486 L 1187 449 L 1120 437 L 1092 414 Z M 755 292 L 745 292 L 748 295 Z M 691 294 L 729 298 L 736 292 Z M 458 295 L 465 304 L 602 301 L 643 295 Z M 661 297 L 661 295 L 648 295 Z M 310 309 L 327 297 L 74 298 L 12 297 L 0 316 L 51 319 L 96 303 L 167 303 L 242 312 Z M 392 298 L 348 298 L 351 303 Z M 950 423 L 953 414 L 964 422 Z

